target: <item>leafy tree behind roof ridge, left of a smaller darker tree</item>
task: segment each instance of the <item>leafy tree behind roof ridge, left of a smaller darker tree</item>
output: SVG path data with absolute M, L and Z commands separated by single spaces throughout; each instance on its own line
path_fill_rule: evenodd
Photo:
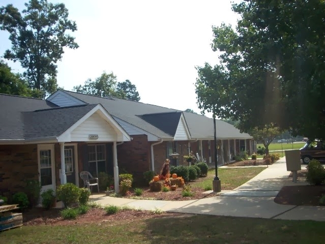
M 77 93 L 95 95 L 99 97 L 114 96 L 119 97 L 119 92 L 116 90 L 116 76 L 113 72 L 107 74 L 103 72 L 100 77 L 95 80 L 87 79 L 84 85 L 74 86 L 73 89 Z

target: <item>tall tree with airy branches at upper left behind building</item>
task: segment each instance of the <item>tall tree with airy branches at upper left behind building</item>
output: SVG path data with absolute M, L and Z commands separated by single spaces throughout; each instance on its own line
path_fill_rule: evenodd
M 57 88 L 56 63 L 61 60 L 64 47 L 78 48 L 67 31 L 77 25 L 68 20 L 64 4 L 47 0 L 30 0 L 21 13 L 12 4 L 0 8 L 0 28 L 10 33 L 11 50 L 4 57 L 19 61 L 29 86 L 43 92 L 43 97 Z

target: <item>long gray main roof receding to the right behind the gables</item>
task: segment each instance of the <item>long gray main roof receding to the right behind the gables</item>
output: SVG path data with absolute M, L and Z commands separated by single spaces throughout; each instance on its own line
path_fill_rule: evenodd
M 162 120 L 159 121 L 157 115 L 152 115 L 153 117 L 151 117 L 149 114 L 181 112 L 180 110 L 176 109 L 134 102 L 125 99 L 106 99 L 92 95 L 70 92 L 67 90 L 64 90 L 64 92 L 88 104 L 100 103 L 111 115 L 162 138 L 174 136 L 174 134 L 172 134 L 173 130 L 170 128 L 165 129 L 162 125 Z M 213 138 L 214 130 L 212 118 L 188 112 L 183 113 L 192 138 Z M 145 117 L 139 116 L 144 114 Z M 151 121 L 149 118 L 153 120 Z M 178 121 L 176 127 L 178 126 Z M 175 121 L 173 121 L 171 127 L 175 126 L 174 123 Z M 218 138 L 252 138 L 246 133 L 240 133 L 240 130 L 221 120 L 216 120 L 216 127 Z

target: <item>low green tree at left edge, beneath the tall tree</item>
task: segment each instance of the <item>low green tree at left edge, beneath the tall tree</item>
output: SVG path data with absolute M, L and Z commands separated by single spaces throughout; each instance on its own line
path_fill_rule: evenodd
M 19 74 L 14 74 L 11 68 L 0 60 L 0 93 L 24 97 L 39 97 L 40 90 L 31 89 Z

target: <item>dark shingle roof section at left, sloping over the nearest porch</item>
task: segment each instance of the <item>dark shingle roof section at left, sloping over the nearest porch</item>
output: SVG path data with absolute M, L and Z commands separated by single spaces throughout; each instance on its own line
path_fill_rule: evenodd
M 0 94 L 0 140 L 60 136 L 95 106 L 60 108 L 42 99 Z

